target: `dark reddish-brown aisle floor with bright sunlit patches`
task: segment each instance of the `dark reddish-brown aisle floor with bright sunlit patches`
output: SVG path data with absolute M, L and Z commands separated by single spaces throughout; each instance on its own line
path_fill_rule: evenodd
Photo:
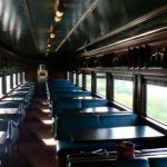
M 60 167 L 56 156 L 52 119 L 47 102 L 45 79 L 39 78 L 35 98 L 27 109 L 21 136 L 13 156 L 8 160 L 10 167 Z

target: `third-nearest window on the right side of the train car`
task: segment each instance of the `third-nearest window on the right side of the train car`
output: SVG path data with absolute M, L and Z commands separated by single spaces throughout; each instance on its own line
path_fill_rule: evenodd
M 97 73 L 96 75 L 96 91 L 99 95 L 106 97 L 106 73 Z

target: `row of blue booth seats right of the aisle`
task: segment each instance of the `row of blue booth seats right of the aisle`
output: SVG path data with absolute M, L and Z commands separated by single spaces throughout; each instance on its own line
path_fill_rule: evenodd
M 57 154 L 59 156 L 99 148 L 112 149 L 115 147 L 116 144 L 112 143 L 76 144 L 69 137 L 69 130 L 112 127 L 119 124 L 116 119 L 110 121 L 107 116 L 99 117 L 91 114 L 79 115 L 79 111 L 85 108 L 108 106 L 109 102 L 107 99 L 92 97 L 89 91 L 81 90 L 80 87 L 76 87 L 69 80 L 63 79 L 48 82 L 47 88 L 48 98 L 51 101 L 52 116 L 55 118 L 55 138 L 57 139 Z M 137 115 L 128 116 L 125 114 L 121 117 L 121 119 L 125 119 L 125 117 L 129 119 L 127 122 L 122 121 L 122 125 L 138 124 Z

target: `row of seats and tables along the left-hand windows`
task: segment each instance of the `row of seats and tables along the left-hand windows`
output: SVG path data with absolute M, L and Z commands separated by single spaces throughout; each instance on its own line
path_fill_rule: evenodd
M 26 109 L 33 97 L 35 82 L 24 81 L 0 100 L 0 159 L 8 159 L 20 136 Z

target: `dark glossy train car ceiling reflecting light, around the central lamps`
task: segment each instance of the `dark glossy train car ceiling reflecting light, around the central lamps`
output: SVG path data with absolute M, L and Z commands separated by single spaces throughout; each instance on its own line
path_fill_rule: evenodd
M 167 23 L 166 12 L 125 26 L 167 7 L 166 0 L 59 0 L 62 20 L 55 21 L 58 0 L 0 0 L 0 45 L 22 58 L 91 50 Z M 50 39 L 50 27 L 56 38 Z M 121 30 L 120 30 L 121 29 Z M 100 42 L 99 42 L 100 41 Z

